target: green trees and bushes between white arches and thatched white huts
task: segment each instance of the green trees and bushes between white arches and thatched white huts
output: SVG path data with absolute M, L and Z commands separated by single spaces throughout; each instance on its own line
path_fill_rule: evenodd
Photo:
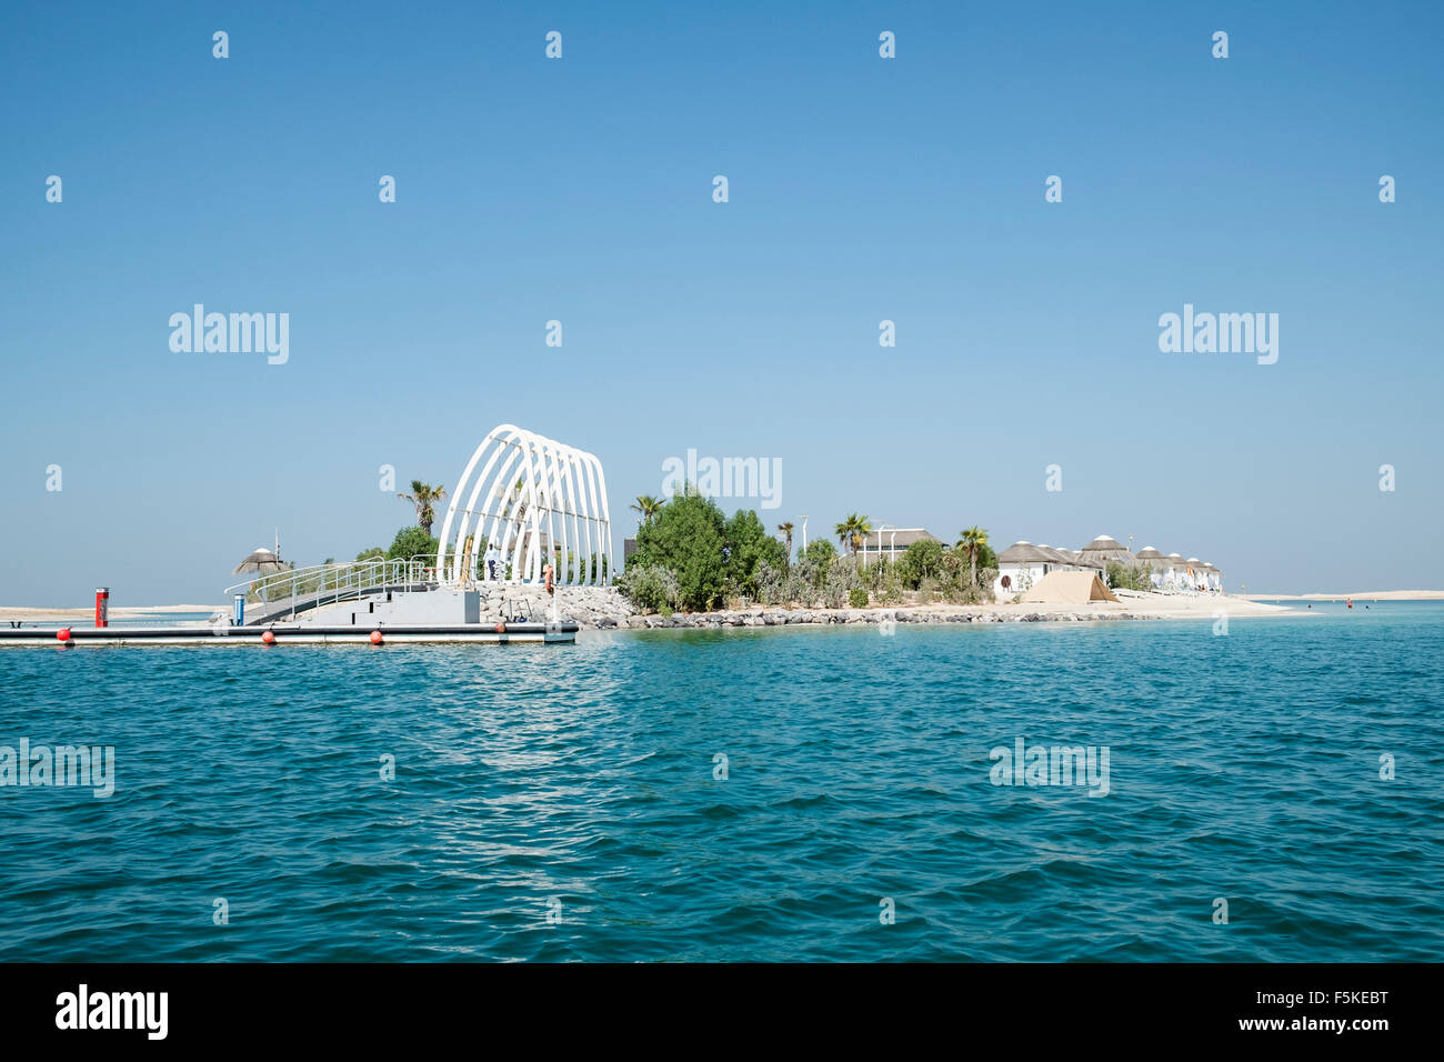
M 807 543 L 793 556 L 791 523 L 777 526 L 774 538 L 752 510 L 732 517 L 710 497 L 687 484 L 670 498 L 643 494 L 631 509 L 640 516 L 637 548 L 617 588 L 638 608 L 712 611 L 729 604 L 755 603 L 800 608 L 865 608 L 946 601 L 978 604 L 992 600 L 998 558 L 988 532 L 969 527 L 956 545 L 930 539 L 911 543 L 892 559 L 869 559 L 859 551 L 872 524 L 851 513 L 827 539 Z

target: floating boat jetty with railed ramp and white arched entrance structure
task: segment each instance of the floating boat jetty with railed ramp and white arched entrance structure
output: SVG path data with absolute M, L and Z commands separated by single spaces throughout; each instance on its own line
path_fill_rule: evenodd
M 484 543 L 501 561 L 485 559 Z M 276 555 L 257 551 L 247 561 L 261 555 L 282 571 L 227 587 L 232 611 L 209 623 L 113 627 L 103 587 L 94 627 L 0 629 L 0 646 L 575 642 L 578 624 L 560 618 L 554 592 L 609 579 L 606 477 L 586 451 L 500 425 L 452 491 L 435 555 L 283 568 L 277 543 Z M 243 562 L 241 571 L 258 569 Z

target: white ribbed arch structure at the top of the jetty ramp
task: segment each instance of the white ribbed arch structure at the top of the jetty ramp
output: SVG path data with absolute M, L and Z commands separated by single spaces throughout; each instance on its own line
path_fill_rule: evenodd
M 556 439 L 500 425 L 466 462 L 439 539 L 436 572 L 445 585 L 478 577 L 482 542 L 501 552 L 498 578 L 511 565 L 510 582 L 536 582 L 542 566 L 553 564 L 562 585 L 606 584 L 612 523 L 602 462 Z

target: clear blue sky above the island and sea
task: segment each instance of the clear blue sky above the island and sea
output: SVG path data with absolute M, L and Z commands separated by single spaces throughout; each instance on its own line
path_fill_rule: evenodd
M 618 548 L 693 446 L 781 458 L 813 536 L 1441 584 L 1444 6 L 780 7 L 7 4 L 0 603 L 386 545 L 377 468 L 500 422 L 601 457 Z M 195 302 L 290 314 L 289 363 L 172 353 Z M 1186 302 L 1278 363 L 1160 353 Z

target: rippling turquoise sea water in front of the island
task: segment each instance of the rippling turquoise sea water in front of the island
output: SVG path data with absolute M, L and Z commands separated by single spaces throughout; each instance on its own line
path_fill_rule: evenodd
M 1314 613 L 4 649 L 116 792 L 0 787 L 0 958 L 1437 961 L 1444 607 Z

